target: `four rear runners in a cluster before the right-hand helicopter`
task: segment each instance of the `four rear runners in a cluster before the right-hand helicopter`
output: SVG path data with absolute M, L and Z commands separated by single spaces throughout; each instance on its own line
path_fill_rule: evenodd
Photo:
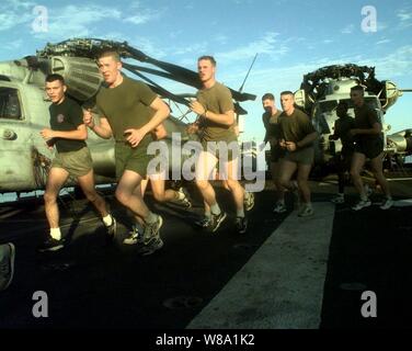
M 376 182 L 385 194 L 380 208 L 388 210 L 393 201 L 382 169 L 381 123 L 376 111 L 365 103 L 362 86 L 351 89 L 351 100 L 355 117 L 348 115 L 347 102 L 340 101 L 336 106 L 337 120 L 334 124 L 334 133 L 329 137 L 330 140 L 341 139 L 342 143 L 342 149 L 335 156 L 339 193 L 332 202 L 344 202 L 345 172 L 348 171 L 360 197 L 352 208 L 359 211 L 371 205 L 368 188 L 364 185 L 360 177 L 365 162 L 369 159 Z M 262 97 L 262 105 L 265 110 L 262 120 L 266 128 L 264 141 L 271 145 L 271 173 L 276 192 L 274 212 L 286 212 L 285 190 L 289 190 L 301 200 L 298 216 L 311 216 L 313 208 L 308 177 L 313 165 L 314 140 L 318 134 L 309 116 L 296 107 L 293 92 L 282 92 L 281 104 L 283 112 L 277 110 L 272 93 Z M 296 180 L 290 181 L 295 171 L 297 171 Z

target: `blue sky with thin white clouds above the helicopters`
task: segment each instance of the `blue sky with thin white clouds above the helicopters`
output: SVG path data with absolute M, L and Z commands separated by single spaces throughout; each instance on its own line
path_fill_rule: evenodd
M 33 31 L 36 5 L 47 9 L 48 31 Z M 365 33 L 362 9 L 373 5 L 377 31 Z M 260 98 L 297 90 L 302 75 L 322 66 L 353 63 L 376 67 L 378 79 L 412 88 L 412 3 L 404 1 L 301 0 L 5 0 L 0 4 L 0 60 L 34 55 L 47 42 L 70 37 L 127 41 L 148 55 L 196 69 L 215 55 L 218 80 L 238 89 L 258 53 L 244 91 L 258 95 L 245 138 L 262 139 Z M 176 92 L 192 91 L 168 83 Z M 412 128 L 412 93 L 387 113 L 392 131 Z

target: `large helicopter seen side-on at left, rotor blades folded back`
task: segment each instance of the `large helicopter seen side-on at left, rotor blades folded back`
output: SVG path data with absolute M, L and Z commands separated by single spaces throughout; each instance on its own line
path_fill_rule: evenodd
M 68 86 L 68 95 L 82 104 L 91 99 L 103 83 L 95 63 L 96 56 L 103 50 L 117 52 L 124 59 L 123 67 L 146 81 L 162 99 L 169 100 L 169 104 L 187 106 L 188 98 L 194 95 L 174 94 L 142 72 L 201 88 L 197 72 L 151 58 L 126 42 L 73 38 L 47 44 L 44 49 L 37 50 L 36 56 L 0 63 L 0 193 L 45 188 L 53 158 L 39 135 L 39 131 L 49 125 L 50 101 L 44 91 L 45 77 L 52 72 L 61 75 Z M 137 61 L 146 66 L 136 65 Z M 230 90 L 237 115 L 245 114 L 239 102 L 254 100 L 255 95 Z M 181 133 L 183 141 L 191 138 L 186 133 L 187 124 L 183 122 L 187 113 L 188 110 L 182 113 L 181 117 L 171 116 L 165 121 L 168 136 L 178 132 Z M 98 118 L 96 115 L 95 117 Z M 87 143 L 93 158 L 96 183 L 115 182 L 113 140 L 104 140 L 94 133 L 89 133 Z M 72 183 L 69 181 L 68 185 Z

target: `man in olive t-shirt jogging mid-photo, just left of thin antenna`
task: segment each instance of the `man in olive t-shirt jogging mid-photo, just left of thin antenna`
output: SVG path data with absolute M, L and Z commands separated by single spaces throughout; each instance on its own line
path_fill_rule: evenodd
M 198 186 L 204 201 L 210 207 L 210 224 L 208 229 L 214 233 L 227 217 L 220 210 L 216 194 L 210 185 L 210 178 L 218 162 L 220 173 L 227 178 L 229 186 L 237 207 L 236 226 L 239 234 L 244 234 L 248 227 L 248 220 L 244 215 L 243 200 L 244 190 L 238 180 L 238 152 L 237 135 L 234 133 L 234 106 L 230 90 L 216 81 L 216 60 L 211 56 L 202 56 L 197 60 L 198 76 L 202 81 L 202 89 L 197 92 L 197 100 L 191 103 L 191 109 L 199 116 L 202 126 L 201 141 L 203 151 L 196 162 L 196 185 Z M 219 146 L 221 143 L 229 148 L 228 158 L 221 157 L 228 148 Z M 234 147 L 236 151 L 230 150 Z

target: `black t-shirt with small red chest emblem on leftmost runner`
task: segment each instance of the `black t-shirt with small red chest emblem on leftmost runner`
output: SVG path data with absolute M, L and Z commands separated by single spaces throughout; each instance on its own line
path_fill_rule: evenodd
M 60 104 L 52 103 L 48 111 L 53 131 L 71 132 L 83 124 L 83 112 L 80 105 L 67 97 Z M 77 151 L 87 146 L 84 140 L 65 138 L 54 138 L 54 143 L 58 152 Z

